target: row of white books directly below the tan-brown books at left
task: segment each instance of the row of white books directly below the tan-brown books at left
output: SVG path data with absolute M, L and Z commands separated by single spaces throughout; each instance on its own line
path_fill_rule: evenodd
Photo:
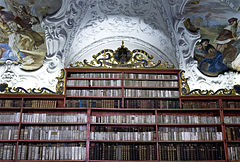
M 22 113 L 22 122 L 86 123 L 87 122 L 87 114 L 81 114 L 81 113 Z

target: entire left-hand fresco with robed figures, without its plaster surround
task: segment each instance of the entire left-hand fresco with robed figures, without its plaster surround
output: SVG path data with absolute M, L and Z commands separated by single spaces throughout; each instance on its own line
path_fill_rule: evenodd
M 47 52 L 41 22 L 60 7 L 61 0 L 1 0 L 0 66 L 8 62 L 26 71 L 41 68 Z

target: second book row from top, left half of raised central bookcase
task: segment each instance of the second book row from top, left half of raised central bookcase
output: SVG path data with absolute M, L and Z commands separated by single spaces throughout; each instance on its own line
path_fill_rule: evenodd
M 67 80 L 67 86 L 121 87 L 122 86 L 122 80 Z

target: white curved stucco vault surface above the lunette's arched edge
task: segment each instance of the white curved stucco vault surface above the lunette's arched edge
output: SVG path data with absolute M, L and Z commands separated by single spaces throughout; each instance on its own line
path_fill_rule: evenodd
M 153 53 L 152 55 L 164 54 L 168 59 L 163 61 L 171 60 L 170 62 L 178 67 L 175 48 L 169 38 L 171 34 L 168 31 L 168 25 L 162 18 L 157 0 L 92 0 L 89 1 L 88 6 L 86 16 L 78 23 L 75 39 L 68 40 L 68 42 L 72 42 L 72 47 L 69 52 L 66 52 L 68 58 L 65 59 L 65 67 L 80 61 L 78 59 L 85 55 L 95 54 L 83 53 L 86 51 L 85 48 L 91 44 L 96 45 L 97 42 L 101 44 L 103 43 L 101 40 L 108 38 L 114 40 L 114 37 L 119 38 L 120 36 L 135 37 L 136 40 L 149 42 L 162 51 L 160 54 Z M 113 49 L 114 47 L 106 44 L 105 48 Z

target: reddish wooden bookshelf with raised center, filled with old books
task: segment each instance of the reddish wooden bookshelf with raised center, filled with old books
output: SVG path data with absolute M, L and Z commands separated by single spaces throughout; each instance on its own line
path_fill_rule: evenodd
M 1 95 L 0 160 L 240 160 L 240 98 L 181 96 L 179 70 L 66 69 L 65 95 Z

